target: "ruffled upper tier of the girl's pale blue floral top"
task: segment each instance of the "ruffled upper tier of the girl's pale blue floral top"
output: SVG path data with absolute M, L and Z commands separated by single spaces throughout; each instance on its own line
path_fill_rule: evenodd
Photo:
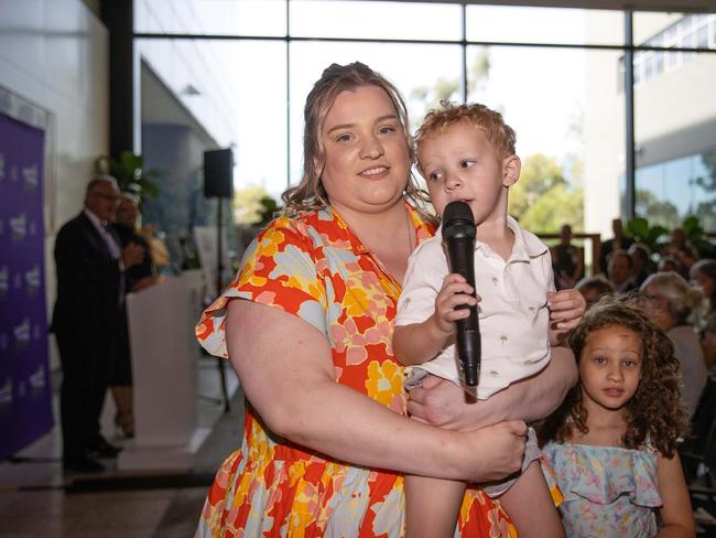
M 566 502 L 585 498 L 609 505 L 627 495 L 637 506 L 662 505 L 657 484 L 658 454 L 618 446 L 547 443 L 547 484 L 558 484 Z

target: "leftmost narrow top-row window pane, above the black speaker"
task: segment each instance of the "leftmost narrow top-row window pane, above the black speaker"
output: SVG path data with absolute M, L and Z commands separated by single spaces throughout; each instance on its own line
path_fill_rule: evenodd
M 281 36 L 286 0 L 135 0 L 134 31 Z

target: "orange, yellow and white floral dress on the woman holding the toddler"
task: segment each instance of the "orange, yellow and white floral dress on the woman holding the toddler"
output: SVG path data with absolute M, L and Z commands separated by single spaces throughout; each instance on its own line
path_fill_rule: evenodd
M 421 243 L 434 230 L 408 208 Z M 337 383 L 404 415 L 403 368 L 391 347 L 400 290 L 332 209 L 281 217 L 249 247 L 239 276 L 204 312 L 196 334 L 210 353 L 226 357 L 231 298 L 290 312 L 325 336 Z M 219 469 L 196 536 L 399 538 L 403 513 L 400 474 L 282 440 L 247 406 L 242 445 Z M 499 504 L 468 489 L 455 536 L 517 534 Z

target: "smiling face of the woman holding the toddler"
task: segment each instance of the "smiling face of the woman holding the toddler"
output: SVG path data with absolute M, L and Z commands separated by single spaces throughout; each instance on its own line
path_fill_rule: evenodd
M 380 213 L 402 200 L 408 142 L 390 97 L 377 86 L 338 94 L 321 130 L 316 160 L 330 205 L 338 212 Z

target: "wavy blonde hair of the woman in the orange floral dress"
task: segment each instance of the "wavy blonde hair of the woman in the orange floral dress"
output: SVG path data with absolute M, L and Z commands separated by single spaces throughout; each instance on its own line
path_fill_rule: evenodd
M 285 215 L 292 216 L 302 211 L 321 209 L 329 205 L 328 195 L 321 182 L 322 170 L 316 169 L 316 161 L 325 157 L 325 148 L 321 142 L 321 129 L 336 97 L 341 92 L 354 90 L 364 86 L 376 86 L 388 94 L 395 107 L 398 119 L 405 136 L 405 144 L 413 162 L 415 150 L 408 131 L 408 109 L 398 88 L 386 77 L 375 72 L 366 64 L 354 62 L 348 65 L 330 64 L 308 93 L 303 110 L 303 175 L 301 182 L 289 187 L 282 195 Z M 417 186 L 412 172 L 405 179 L 405 197 L 416 207 L 421 216 L 433 224 L 434 215 L 424 207 L 430 203 L 427 193 Z

